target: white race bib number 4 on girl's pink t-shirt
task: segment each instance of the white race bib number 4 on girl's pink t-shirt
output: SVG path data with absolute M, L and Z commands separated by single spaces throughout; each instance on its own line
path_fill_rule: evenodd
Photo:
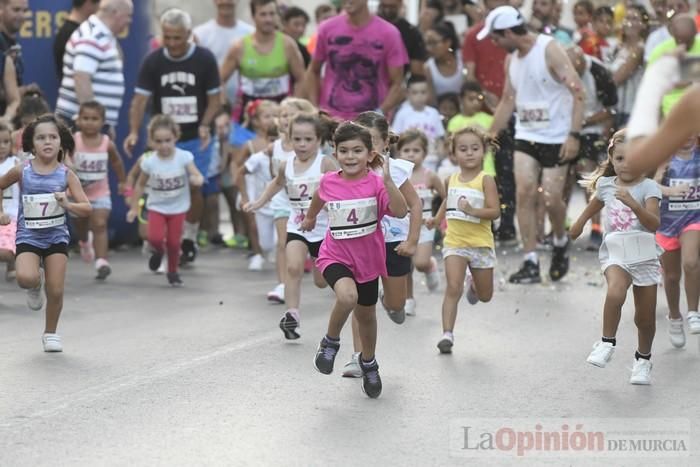
M 377 199 L 330 201 L 326 204 L 331 236 L 338 240 L 358 238 L 377 230 Z

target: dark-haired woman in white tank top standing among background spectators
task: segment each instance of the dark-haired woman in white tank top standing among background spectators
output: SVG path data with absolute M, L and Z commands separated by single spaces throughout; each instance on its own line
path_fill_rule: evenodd
M 425 63 L 430 102 L 437 103 L 438 96 L 462 89 L 465 70 L 459 40 L 449 23 L 438 23 L 425 33 L 425 45 L 430 53 Z

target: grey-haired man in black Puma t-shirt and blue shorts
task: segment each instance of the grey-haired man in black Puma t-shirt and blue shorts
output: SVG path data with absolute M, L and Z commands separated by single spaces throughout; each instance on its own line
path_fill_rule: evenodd
M 211 124 L 221 106 L 219 67 L 209 49 L 189 42 L 192 35 L 189 14 L 177 8 L 167 10 L 161 17 L 161 30 L 163 47 L 147 56 L 139 70 L 124 150 L 131 154 L 138 142 L 150 99 L 152 115 L 170 115 L 180 125 L 177 147 L 194 154 L 195 165 L 206 179 L 214 148 Z M 195 259 L 195 240 L 203 210 L 202 191 L 193 188 L 182 240 L 184 261 Z

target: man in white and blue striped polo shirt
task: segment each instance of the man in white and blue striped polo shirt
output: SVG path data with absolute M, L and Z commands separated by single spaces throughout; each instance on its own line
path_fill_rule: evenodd
M 63 55 L 63 80 L 56 114 L 69 124 L 80 104 L 96 100 L 107 109 L 110 133 L 119 120 L 124 96 L 123 62 L 116 35 L 131 23 L 131 0 L 101 0 L 97 14 L 90 16 L 71 35 Z

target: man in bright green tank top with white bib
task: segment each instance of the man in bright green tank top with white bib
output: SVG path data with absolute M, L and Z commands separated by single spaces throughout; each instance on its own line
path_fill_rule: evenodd
M 277 31 L 278 7 L 275 0 L 251 0 L 250 12 L 255 32 L 239 39 L 231 47 L 221 65 L 221 82 L 226 83 L 235 71 L 240 72 L 237 100 L 238 116 L 243 120 L 248 102 L 266 99 L 281 102 L 301 92 L 304 60 L 296 41 Z

